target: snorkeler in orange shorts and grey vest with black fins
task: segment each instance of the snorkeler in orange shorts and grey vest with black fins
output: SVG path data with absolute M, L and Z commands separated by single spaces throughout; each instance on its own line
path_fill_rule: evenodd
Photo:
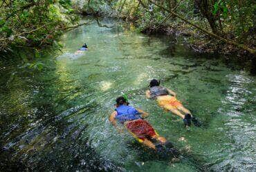
M 191 125 L 191 120 L 195 126 L 199 127 L 201 122 L 192 116 L 191 112 L 183 107 L 181 102 L 176 99 L 176 93 L 171 89 L 161 87 L 160 81 L 153 79 L 149 83 L 149 90 L 146 91 L 146 97 L 156 99 L 158 105 L 164 109 L 171 111 L 173 114 L 181 117 L 185 127 Z M 172 95 L 172 96 L 171 96 Z

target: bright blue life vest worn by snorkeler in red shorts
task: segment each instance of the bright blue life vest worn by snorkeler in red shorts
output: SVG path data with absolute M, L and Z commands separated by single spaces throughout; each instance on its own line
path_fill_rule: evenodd
M 119 122 L 125 122 L 127 120 L 137 120 L 140 119 L 140 113 L 131 106 L 120 105 L 115 109 L 118 112 L 116 119 Z

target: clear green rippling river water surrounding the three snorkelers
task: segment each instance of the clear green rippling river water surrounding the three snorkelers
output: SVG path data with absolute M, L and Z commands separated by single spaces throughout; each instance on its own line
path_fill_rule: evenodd
M 75 55 L 84 42 L 89 52 Z M 43 72 L 0 63 L 1 170 L 255 171 L 255 76 L 167 36 L 118 34 L 95 23 L 64 34 L 62 43 L 62 53 L 40 60 Z M 184 129 L 146 100 L 152 78 L 173 89 L 203 127 Z M 122 93 L 181 150 L 177 162 L 110 125 Z

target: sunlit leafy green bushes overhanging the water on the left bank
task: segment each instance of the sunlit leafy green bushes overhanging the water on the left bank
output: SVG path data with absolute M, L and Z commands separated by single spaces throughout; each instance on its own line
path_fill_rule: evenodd
M 71 0 L 8 0 L 0 7 L 0 51 L 10 46 L 53 45 L 75 21 Z

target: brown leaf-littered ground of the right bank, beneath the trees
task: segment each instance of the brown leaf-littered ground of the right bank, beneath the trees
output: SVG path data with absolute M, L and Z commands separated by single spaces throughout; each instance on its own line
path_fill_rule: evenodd
M 199 32 L 188 24 L 181 23 L 180 25 L 159 25 L 157 27 L 145 28 L 142 30 L 144 34 L 165 34 L 175 36 L 185 36 L 184 45 L 189 47 L 199 54 L 222 54 L 228 56 L 237 56 L 237 58 L 251 59 L 253 54 L 246 50 L 241 50 L 233 45 L 223 43 L 223 41 L 211 38 L 207 34 Z M 249 44 L 248 44 L 249 46 Z M 253 49 L 254 47 L 251 46 Z

